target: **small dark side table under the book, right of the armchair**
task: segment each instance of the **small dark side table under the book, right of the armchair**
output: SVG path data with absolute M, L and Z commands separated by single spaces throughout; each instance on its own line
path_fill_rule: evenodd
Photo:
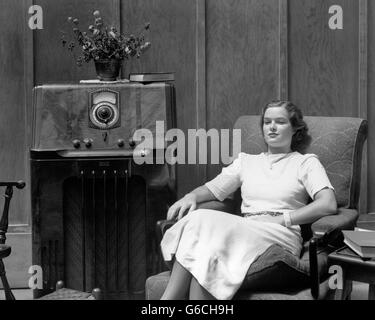
M 360 216 L 357 227 L 375 230 L 375 215 Z M 375 300 L 375 260 L 365 260 L 351 249 L 345 247 L 328 255 L 328 265 L 339 265 L 343 274 L 343 289 L 336 290 L 335 299 L 350 298 L 352 281 L 369 284 L 369 300 Z

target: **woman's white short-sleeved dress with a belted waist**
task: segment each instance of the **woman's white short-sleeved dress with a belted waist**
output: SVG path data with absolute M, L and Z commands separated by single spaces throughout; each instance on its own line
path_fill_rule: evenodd
M 298 152 L 240 153 L 206 186 L 220 201 L 241 187 L 241 212 L 246 217 L 195 210 L 165 233 L 161 249 L 166 261 L 175 257 L 219 300 L 233 297 L 250 265 L 272 244 L 300 254 L 299 226 L 258 221 L 261 216 L 256 213 L 291 212 L 305 206 L 318 191 L 333 190 L 317 156 Z

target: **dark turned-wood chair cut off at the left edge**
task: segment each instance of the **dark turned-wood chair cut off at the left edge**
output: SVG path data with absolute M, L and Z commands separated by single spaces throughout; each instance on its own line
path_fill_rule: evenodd
M 6 300 L 15 300 L 13 293 L 10 289 L 8 279 L 6 277 L 5 267 L 3 263 L 3 259 L 8 257 L 12 251 L 12 248 L 10 246 L 5 245 L 6 233 L 8 231 L 9 205 L 10 200 L 13 196 L 13 187 L 16 187 L 17 189 L 23 189 L 25 185 L 26 184 L 23 181 L 0 182 L 0 187 L 6 187 L 4 195 L 4 209 L 0 220 L 0 277 L 3 283 Z

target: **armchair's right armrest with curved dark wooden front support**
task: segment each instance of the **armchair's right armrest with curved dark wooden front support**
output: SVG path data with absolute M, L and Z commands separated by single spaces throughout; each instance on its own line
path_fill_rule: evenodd
M 328 245 L 342 236 L 341 231 L 353 229 L 358 219 L 358 211 L 339 208 L 337 214 L 324 216 L 311 225 L 313 237 L 309 242 L 311 295 L 318 299 L 320 275 L 318 270 L 318 246 Z

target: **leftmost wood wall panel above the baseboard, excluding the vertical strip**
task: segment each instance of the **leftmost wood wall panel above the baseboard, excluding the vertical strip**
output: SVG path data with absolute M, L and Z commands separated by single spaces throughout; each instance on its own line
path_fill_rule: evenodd
M 25 103 L 26 64 L 25 7 L 22 1 L 4 0 L 0 10 L 0 180 L 27 180 Z M 4 188 L 1 190 L 1 213 Z M 27 191 L 15 190 L 10 219 L 14 225 L 27 225 Z M 11 230 L 11 229 L 10 229 Z

